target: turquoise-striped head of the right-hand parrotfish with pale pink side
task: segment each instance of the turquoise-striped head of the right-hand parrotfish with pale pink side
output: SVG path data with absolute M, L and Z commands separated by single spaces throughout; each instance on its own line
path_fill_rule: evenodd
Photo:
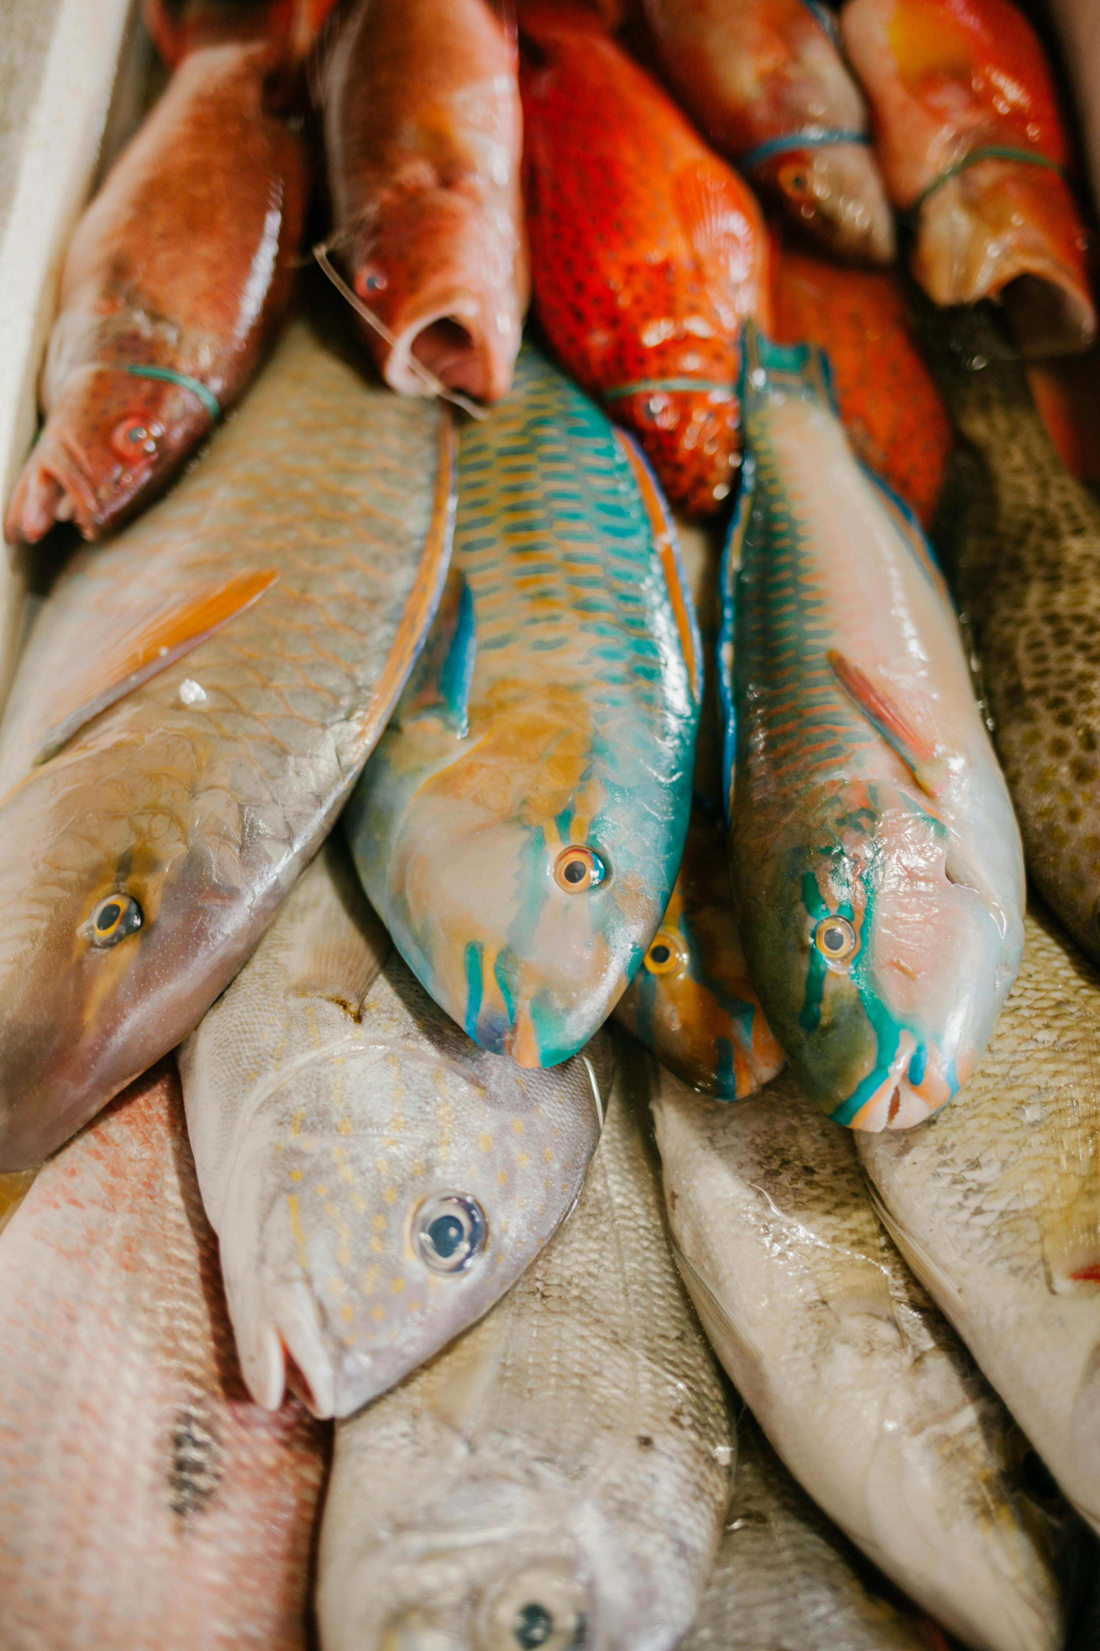
M 839 786 L 765 854 L 770 875 L 749 850 L 764 875 L 740 880 L 740 931 L 798 1083 L 854 1129 L 920 1123 L 993 1032 L 1022 953 L 1022 887 L 998 888 L 932 799 L 894 783 Z

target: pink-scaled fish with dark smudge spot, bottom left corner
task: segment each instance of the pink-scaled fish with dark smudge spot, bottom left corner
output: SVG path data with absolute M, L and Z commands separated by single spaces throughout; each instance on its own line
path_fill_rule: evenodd
M 307 1651 L 328 1440 L 251 1403 L 172 1063 L 0 1235 L 5 1651 Z

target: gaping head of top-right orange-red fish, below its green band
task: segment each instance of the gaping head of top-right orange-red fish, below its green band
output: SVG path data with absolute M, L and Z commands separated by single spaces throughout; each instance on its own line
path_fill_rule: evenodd
M 980 160 L 937 188 L 920 210 L 914 274 L 943 305 L 1001 296 L 1026 357 L 1095 338 L 1069 187 L 1039 167 Z

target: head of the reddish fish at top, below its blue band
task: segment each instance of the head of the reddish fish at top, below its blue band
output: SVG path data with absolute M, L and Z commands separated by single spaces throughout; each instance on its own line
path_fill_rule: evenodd
M 894 215 L 866 144 L 782 150 L 762 160 L 754 177 L 833 253 L 871 264 L 894 261 Z

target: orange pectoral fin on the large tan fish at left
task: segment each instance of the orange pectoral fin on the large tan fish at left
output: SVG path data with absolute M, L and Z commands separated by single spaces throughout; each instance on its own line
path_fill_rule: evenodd
M 54 682 L 48 702 L 51 723 L 33 764 L 49 761 L 92 717 L 239 617 L 277 578 L 272 570 L 237 573 L 223 584 L 208 584 L 186 596 L 167 613 L 137 604 L 127 614 L 122 608 L 122 622 L 109 646 L 91 659 L 82 655 L 74 660 L 71 670 L 61 669 L 61 680 Z

